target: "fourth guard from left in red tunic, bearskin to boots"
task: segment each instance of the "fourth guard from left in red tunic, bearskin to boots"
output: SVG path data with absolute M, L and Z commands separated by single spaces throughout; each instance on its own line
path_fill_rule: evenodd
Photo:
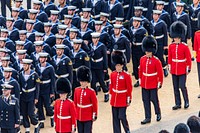
M 151 122 L 151 102 L 154 105 L 156 120 L 161 120 L 161 111 L 158 99 L 158 89 L 163 84 L 163 69 L 160 60 L 154 56 L 157 51 L 157 42 L 152 36 L 147 36 L 142 41 L 145 55 L 140 59 L 139 81 L 142 87 L 142 101 L 145 110 L 145 119 L 141 124 Z

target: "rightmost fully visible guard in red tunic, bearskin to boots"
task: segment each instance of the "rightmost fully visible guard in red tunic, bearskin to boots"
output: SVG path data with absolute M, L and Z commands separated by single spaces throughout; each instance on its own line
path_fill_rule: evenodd
M 172 74 L 174 86 L 175 106 L 173 110 L 181 108 L 181 97 L 179 88 L 184 99 L 184 108 L 189 107 L 186 78 L 191 70 L 191 53 L 187 44 L 181 42 L 185 38 L 186 25 L 180 21 L 174 22 L 170 27 L 170 37 L 173 39 L 169 45 L 168 63 L 169 71 Z

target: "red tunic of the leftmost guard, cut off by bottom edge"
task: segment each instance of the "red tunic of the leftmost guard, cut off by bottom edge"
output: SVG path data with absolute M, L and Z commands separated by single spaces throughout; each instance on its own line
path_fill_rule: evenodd
M 54 121 L 56 132 L 72 132 L 72 127 L 76 127 L 76 109 L 72 100 L 56 100 Z

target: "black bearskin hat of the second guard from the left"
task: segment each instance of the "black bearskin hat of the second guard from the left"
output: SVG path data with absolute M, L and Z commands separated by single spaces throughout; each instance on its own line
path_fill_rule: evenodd
M 80 81 L 87 81 L 91 82 L 92 81 L 92 74 L 91 71 L 88 67 L 86 66 L 80 66 L 77 70 L 76 73 L 77 80 Z

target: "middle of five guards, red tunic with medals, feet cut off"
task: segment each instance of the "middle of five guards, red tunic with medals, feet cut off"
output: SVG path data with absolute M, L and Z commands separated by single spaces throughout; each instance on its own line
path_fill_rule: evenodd
M 115 71 L 110 75 L 110 104 L 112 106 L 113 132 L 121 133 L 121 125 L 126 133 L 130 133 L 126 117 L 126 109 L 132 99 L 131 75 L 123 70 L 126 65 L 126 56 L 121 51 L 114 51 L 111 55 Z

